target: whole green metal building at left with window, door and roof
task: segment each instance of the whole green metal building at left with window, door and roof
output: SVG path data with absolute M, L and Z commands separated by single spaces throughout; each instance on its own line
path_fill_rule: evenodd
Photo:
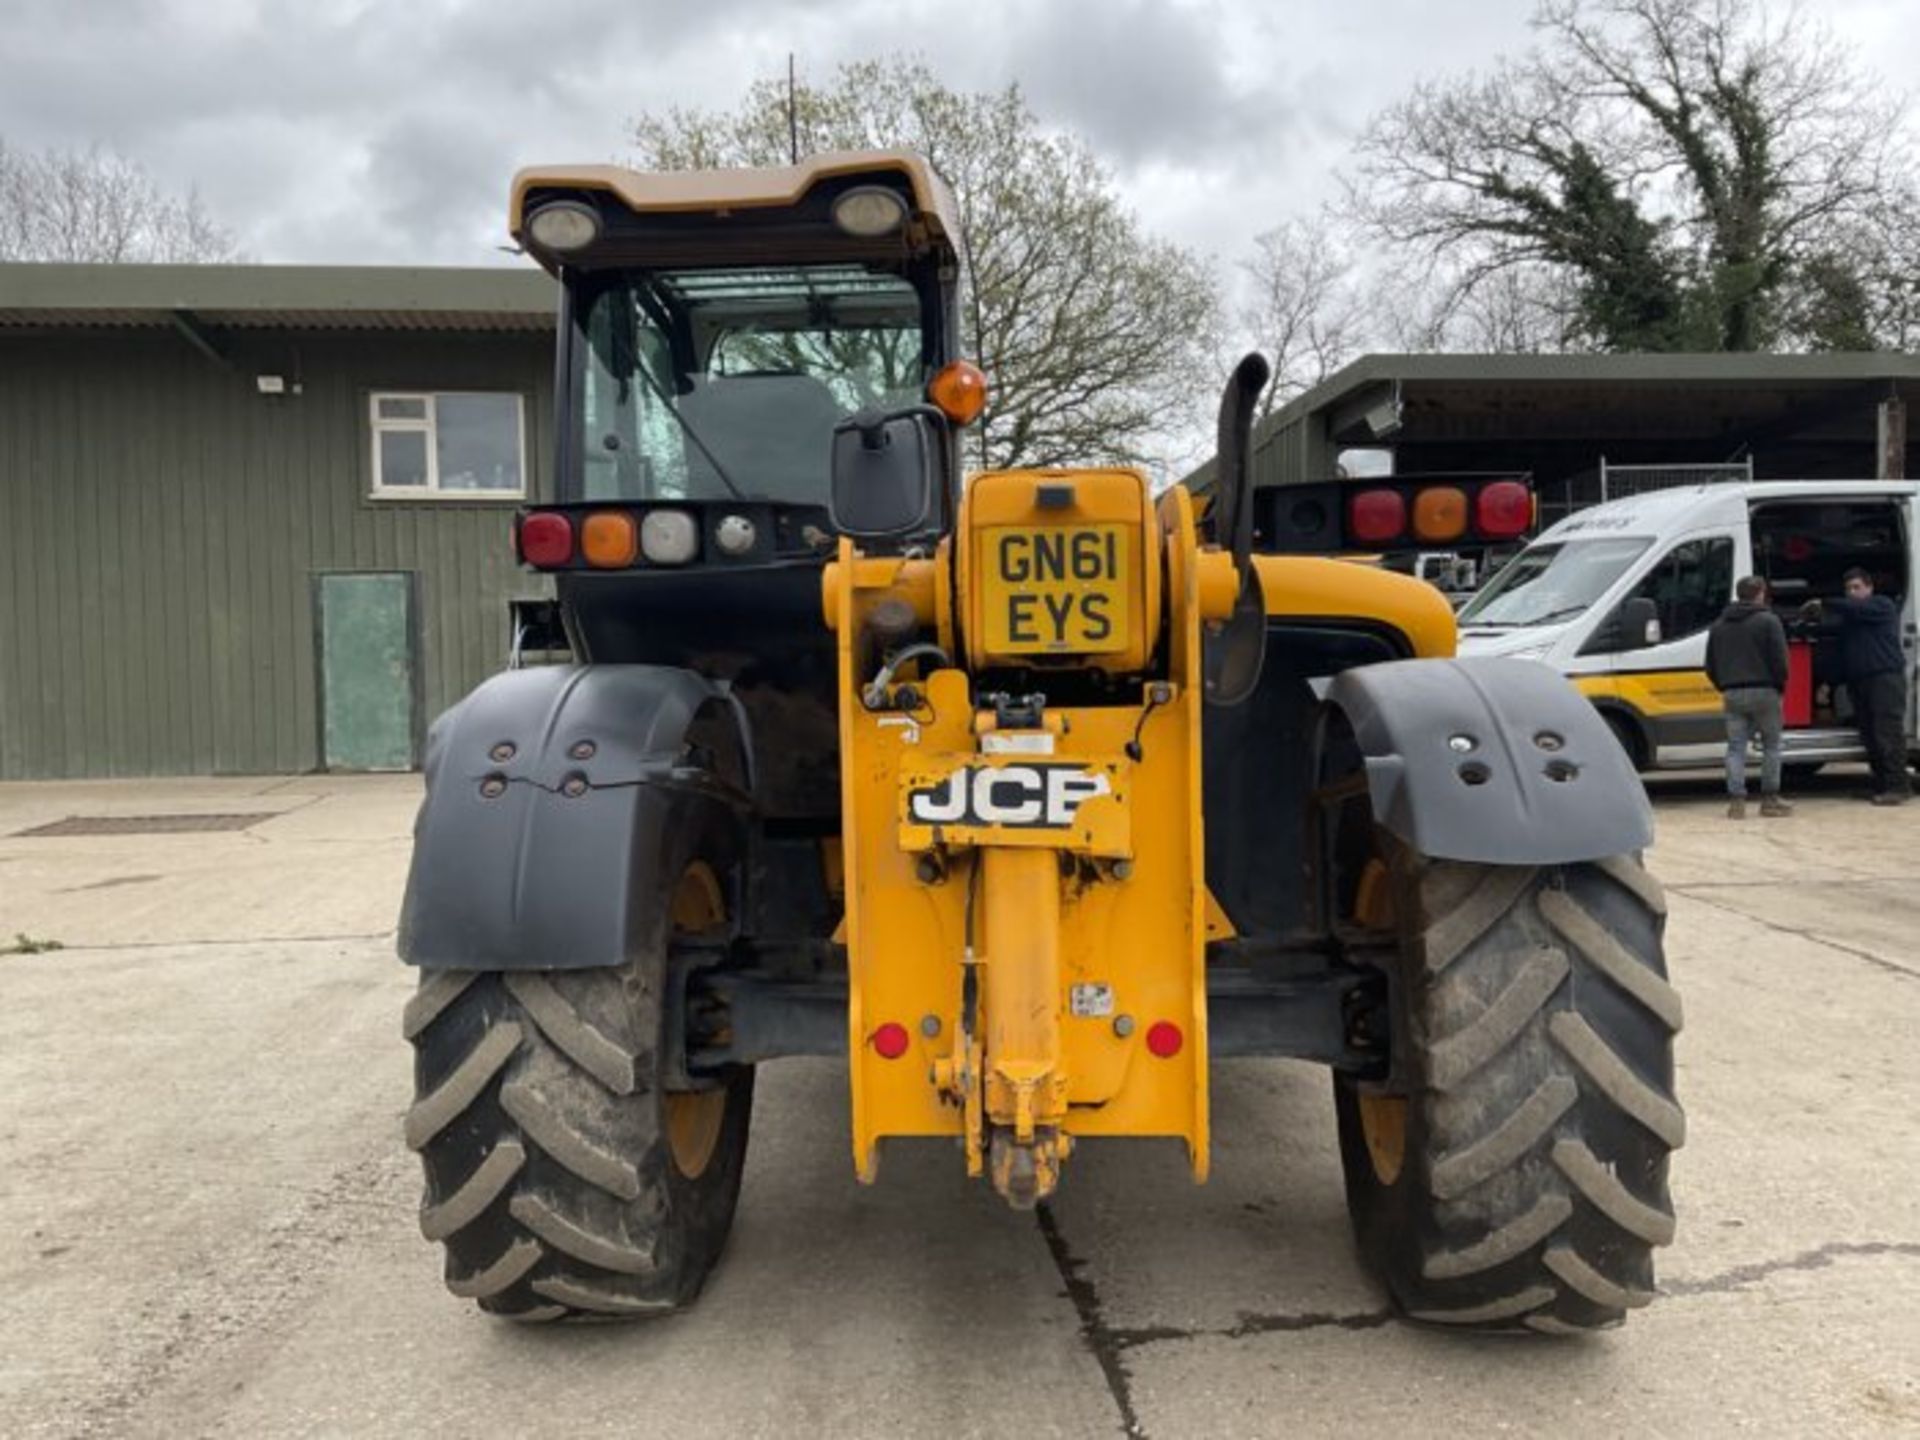
M 545 586 L 536 271 L 0 265 L 0 780 L 417 764 Z

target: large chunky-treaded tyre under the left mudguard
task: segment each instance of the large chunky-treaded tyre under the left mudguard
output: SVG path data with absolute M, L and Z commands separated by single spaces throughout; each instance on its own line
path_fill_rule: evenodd
M 659 1085 L 666 931 L 726 918 L 716 864 L 689 858 L 678 874 L 660 945 L 624 968 L 420 973 L 403 1021 L 420 1231 L 445 1244 L 447 1288 L 486 1311 L 664 1313 L 720 1258 L 753 1069 L 710 1091 Z

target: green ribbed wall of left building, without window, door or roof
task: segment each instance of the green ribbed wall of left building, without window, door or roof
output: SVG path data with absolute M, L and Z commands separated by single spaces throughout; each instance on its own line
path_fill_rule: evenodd
M 230 369 L 171 332 L 0 334 L 0 780 L 319 766 L 317 572 L 419 572 L 426 718 L 547 593 L 511 505 L 367 493 L 378 388 L 520 394 L 547 493 L 547 336 L 217 338 Z

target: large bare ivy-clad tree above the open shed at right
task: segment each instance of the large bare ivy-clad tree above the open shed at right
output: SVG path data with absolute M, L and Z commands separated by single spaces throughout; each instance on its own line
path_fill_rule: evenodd
M 1440 267 L 1453 301 L 1511 271 L 1574 280 L 1569 342 L 1818 344 L 1809 286 L 1884 205 L 1903 113 L 1803 12 L 1757 0 L 1542 0 L 1542 44 L 1375 117 L 1348 209 Z M 1824 280 L 1822 280 L 1824 275 Z

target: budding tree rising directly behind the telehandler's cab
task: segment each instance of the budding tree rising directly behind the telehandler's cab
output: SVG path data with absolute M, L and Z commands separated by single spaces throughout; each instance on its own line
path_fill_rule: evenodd
M 922 61 L 872 60 L 799 84 L 801 154 L 904 146 L 952 186 L 968 232 L 968 346 L 989 376 L 989 465 L 1171 463 L 1204 422 L 1213 278 L 1144 232 L 1073 136 L 1046 131 L 1018 86 L 968 94 Z M 785 165 L 787 79 L 728 111 L 641 115 L 641 165 Z

